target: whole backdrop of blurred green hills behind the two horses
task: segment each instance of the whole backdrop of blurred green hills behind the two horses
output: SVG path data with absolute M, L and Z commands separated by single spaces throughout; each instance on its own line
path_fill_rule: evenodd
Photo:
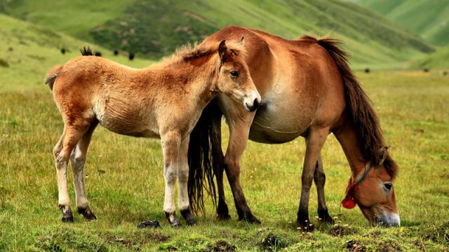
M 157 60 L 183 43 L 241 25 L 292 39 L 302 34 L 340 38 L 358 69 L 448 67 L 440 53 L 448 52 L 441 48 L 448 44 L 448 27 L 442 25 L 448 6 L 449 1 L 438 0 L 0 0 L 1 18 L 8 20 L 1 22 L 0 32 L 8 33 L 1 38 L 6 48 L 36 36 L 48 41 L 36 46 L 55 54 L 91 43 L 104 52 Z M 24 38 L 15 27 L 39 31 Z

